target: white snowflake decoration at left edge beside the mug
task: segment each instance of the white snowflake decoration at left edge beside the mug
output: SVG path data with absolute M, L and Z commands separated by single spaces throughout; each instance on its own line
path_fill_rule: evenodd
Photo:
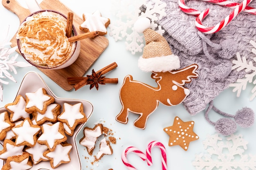
M 18 54 L 10 57 L 11 54 L 13 54 L 16 49 L 16 47 L 9 48 L 6 46 L 11 45 L 11 42 L 7 42 L 7 40 L 4 40 L 3 42 L 0 42 L 0 100 L 2 101 L 2 95 L 3 95 L 3 84 L 9 84 L 9 82 L 5 81 L 4 79 L 8 78 L 13 82 L 16 82 L 15 78 L 11 75 L 10 72 L 13 72 L 14 74 L 17 74 L 15 67 L 27 67 L 31 66 L 31 64 L 25 63 L 25 62 L 18 62 L 16 61 Z

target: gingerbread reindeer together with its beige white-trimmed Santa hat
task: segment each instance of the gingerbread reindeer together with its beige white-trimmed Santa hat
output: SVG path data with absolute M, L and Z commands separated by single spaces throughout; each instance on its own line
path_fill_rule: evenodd
M 134 126 L 140 129 L 146 128 L 146 121 L 159 102 L 166 106 L 183 102 L 189 95 L 189 89 L 184 85 L 190 83 L 192 78 L 198 77 L 198 65 L 192 64 L 179 69 L 179 57 L 172 53 L 163 36 L 149 29 L 149 26 L 150 21 L 146 18 L 134 25 L 135 30 L 144 33 L 146 41 L 138 65 L 142 71 L 152 72 L 151 78 L 155 79 L 157 87 L 138 82 L 133 80 L 131 75 L 127 75 L 119 92 L 122 109 L 116 117 L 117 121 L 126 124 L 129 112 L 138 114 L 140 116 Z

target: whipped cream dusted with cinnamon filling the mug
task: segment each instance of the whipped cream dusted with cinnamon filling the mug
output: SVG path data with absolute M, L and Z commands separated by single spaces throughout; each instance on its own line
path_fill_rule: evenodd
M 75 42 L 66 37 L 67 20 L 50 11 L 36 13 L 23 22 L 16 38 L 27 60 L 41 66 L 58 66 L 71 57 Z

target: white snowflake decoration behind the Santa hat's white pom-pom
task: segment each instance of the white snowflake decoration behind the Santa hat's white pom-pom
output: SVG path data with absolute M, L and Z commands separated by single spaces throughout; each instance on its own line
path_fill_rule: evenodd
M 109 25 L 109 35 L 112 36 L 115 41 L 125 38 L 126 49 L 131 51 L 132 54 L 142 52 L 144 47 L 143 35 L 133 30 L 134 22 L 140 17 L 147 17 L 151 20 L 151 29 L 157 29 L 157 32 L 161 35 L 164 30 L 161 26 L 155 24 L 155 21 L 162 19 L 166 15 L 165 7 L 166 3 L 161 0 L 152 0 L 146 2 L 146 0 L 113 0 L 112 6 L 116 11 L 116 21 L 111 21 Z M 142 5 L 146 7 L 145 12 L 141 12 L 139 9 Z

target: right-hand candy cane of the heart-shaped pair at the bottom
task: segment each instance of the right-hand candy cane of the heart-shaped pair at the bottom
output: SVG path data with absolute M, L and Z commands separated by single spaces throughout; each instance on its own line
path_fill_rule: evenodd
M 162 170 L 167 170 L 167 158 L 166 158 L 166 149 L 164 145 L 159 141 L 152 141 L 148 144 L 148 148 L 146 149 L 147 163 L 149 166 L 153 164 L 151 157 L 151 150 L 153 147 L 157 147 L 161 150 L 162 154 Z

